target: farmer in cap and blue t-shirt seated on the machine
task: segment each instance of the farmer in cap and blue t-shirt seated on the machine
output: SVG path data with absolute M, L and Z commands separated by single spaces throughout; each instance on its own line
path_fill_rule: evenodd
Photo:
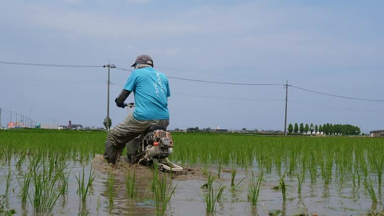
M 138 56 L 131 67 L 135 67 L 135 71 L 128 77 L 115 102 L 117 107 L 125 108 L 124 101 L 133 92 L 136 108 L 107 135 L 104 158 L 113 164 L 120 158 L 127 142 L 152 125 L 167 127 L 169 124 L 167 105 L 171 94 L 168 78 L 154 70 L 154 61 L 148 55 Z

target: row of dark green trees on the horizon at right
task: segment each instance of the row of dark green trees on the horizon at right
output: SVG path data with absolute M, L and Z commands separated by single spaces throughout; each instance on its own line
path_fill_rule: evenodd
M 313 123 L 310 125 L 306 124 L 304 126 L 303 123 L 300 124 L 300 127 L 298 123 L 295 123 L 295 126 L 289 124 L 288 126 L 288 132 L 289 133 L 297 133 L 300 131 L 300 133 L 308 132 L 323 132 L 324 134 L 343 134 L 343 135 L 359 135 L 360 134 L 360 128 L 357 126 L 353 126 L 350 124 L 323 124 L 317 126 L 313 126 Z

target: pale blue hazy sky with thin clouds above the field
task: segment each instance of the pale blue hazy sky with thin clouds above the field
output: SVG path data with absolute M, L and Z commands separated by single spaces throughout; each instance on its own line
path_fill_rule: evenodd
M 168 76 L 258 84 L 288 80 L 327 94 L 384 100 L 380 0 L 0 0 L 0 5 L 0 61 L 103 66 L 110 60 L 129 69 L 138 55 L 148 54 L 154 68 Z M 113 126 L 127 115 L 114 99 L 129 74 L 111 70 Z M 169 84 L 170 129 L 284 130 L 283 85 L 172 78 Z M 126 102 L 133 100 L 131 95 Z M 2 126 L 9 121 L 4 111 L 29 116 L 33 108 L 32 118 L 40 123 L 71 120 L 101 127 L 107 69 L 0 64 L 0 107 Z M 289 87 L 287 121 L 384 129 L 384 102 Z

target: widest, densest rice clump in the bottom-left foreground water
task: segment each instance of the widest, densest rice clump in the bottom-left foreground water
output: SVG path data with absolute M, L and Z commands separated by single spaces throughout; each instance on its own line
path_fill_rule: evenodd
M 43 159 L 42 165 L 33 169 L 33 197 L 29 196 L 29 198 L 36 212 L 50 212 L 60 196 L 60 191 L 55 186 L 58 175 L 54 175 L 52 163 L 53 161 L 50 160 L 47 165 Z

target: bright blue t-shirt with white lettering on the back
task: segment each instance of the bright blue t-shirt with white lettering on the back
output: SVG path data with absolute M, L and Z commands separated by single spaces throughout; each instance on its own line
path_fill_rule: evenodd
M 171 93 L 168 78 L 162 72 L 151 67 L 137 69 L 128 77 L 124 89 L 135 95 L 135 119 L 169 119 L 167 106 Z

